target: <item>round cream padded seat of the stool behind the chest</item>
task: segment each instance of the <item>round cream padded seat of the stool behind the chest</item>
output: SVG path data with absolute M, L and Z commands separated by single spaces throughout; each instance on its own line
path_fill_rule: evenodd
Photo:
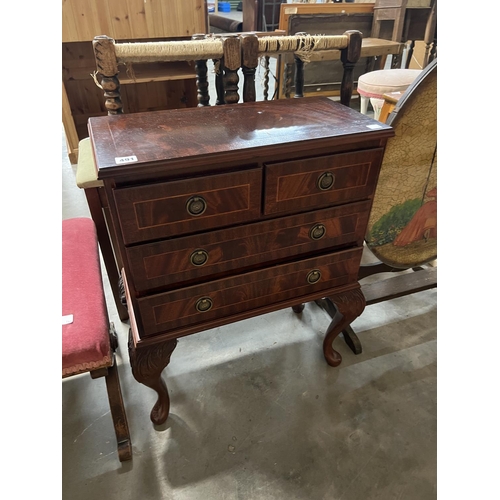
M 358 93 L 364 97 L 382 99 L 388 92 L 405 91 L 421 72 L 421 69 L 370 71 L 358 78 Z

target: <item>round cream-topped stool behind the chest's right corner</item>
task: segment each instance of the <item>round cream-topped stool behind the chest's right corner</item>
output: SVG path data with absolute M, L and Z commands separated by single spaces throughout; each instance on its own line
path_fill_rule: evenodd
M 378 120 L 384 104 L 384 94 L 404 92 L 421 72 L 421 69 L 381 69 L 361 75 L 358 78 L 361 113 L 367 114 L 369 100 L 373 107 L 373 117 Z

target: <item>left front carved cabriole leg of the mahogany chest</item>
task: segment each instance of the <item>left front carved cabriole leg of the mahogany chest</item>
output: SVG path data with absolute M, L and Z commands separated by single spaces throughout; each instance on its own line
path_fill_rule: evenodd
M 129 331 L 129 354 L 132 374 L 137 382 L 158 393 L 158 400 L 151 410 L 151 421 L 161 425 L 168 418 L 170 398 L 167 385 L 161 377 L 162 371 L 170 363 L 170 356 L 177 345 L 177 339 L 137 348 Z

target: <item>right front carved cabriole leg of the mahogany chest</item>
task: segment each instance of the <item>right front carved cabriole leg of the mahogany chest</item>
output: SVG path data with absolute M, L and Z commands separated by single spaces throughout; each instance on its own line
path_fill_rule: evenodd
M 326 332 L 323 353 L 330 366 L 339 366 L 342 356 L 332 347 L 332 343 L 363 312 L 366 302 L 359 285 L 354 290 L 331 295 L 328 299 L 335 305 L 336 314 Z

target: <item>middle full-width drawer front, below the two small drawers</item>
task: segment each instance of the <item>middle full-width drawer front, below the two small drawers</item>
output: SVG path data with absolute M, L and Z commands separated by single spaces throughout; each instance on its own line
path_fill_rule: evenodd
M 370 201 L 127 248 L 138 292 L 350 243 L 361 244 Z

